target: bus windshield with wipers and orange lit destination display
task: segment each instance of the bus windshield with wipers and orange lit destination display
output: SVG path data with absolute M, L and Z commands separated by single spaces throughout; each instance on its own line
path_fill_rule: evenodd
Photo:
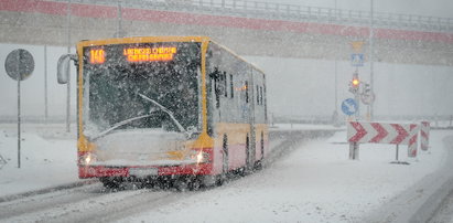
M 199 49 L 192 42 L 84 47 L 84 134 L 93 137 L 116 125 L 199 129 Z

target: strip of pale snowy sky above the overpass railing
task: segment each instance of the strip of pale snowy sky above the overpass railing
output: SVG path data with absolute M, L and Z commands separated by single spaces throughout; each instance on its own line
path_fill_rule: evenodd
M 370 0 L 257 0 L 353 10 L 370 10 Z M 452 0 L 374 0 L 375 11 L 453 18 Z

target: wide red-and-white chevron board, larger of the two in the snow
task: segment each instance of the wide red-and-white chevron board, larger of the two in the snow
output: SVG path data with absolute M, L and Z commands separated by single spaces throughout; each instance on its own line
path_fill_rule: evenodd
M 420 126 L 416 124 L 349 121 L 347 123 L 347 141 L 408 145 L 409 157 L 416 157 L 419 128 Z

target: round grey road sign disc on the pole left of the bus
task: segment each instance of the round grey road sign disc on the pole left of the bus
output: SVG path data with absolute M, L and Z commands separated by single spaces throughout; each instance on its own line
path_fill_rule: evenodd
M 32 54 L 23 49 L 11 51 L 4 61 L 4 70 L 7 70 L 8 76 L 15 81 L 26 79 L 34 70 Z

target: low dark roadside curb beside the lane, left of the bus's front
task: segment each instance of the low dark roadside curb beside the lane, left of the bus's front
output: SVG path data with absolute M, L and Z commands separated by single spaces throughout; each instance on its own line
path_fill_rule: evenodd
M 94 183 L 97 183 L 97 182 L 99 182 L 97 179 L 88 179 L 88 180 L 80 180 L 80 181 L 60 184 L 60 185 L 55 185 L 55 187 L 28 191 L 28 192 L 23 192 L 23 193 L 4 195 L 4 197 L 0 197 L 0 203 L 8 202 L 8 201 L 13 201 L 13 200 L 30 197 L 30 195 L 39 195 L 39 194 L 50 193 L 50 192 L 54 192 L 54 191 L 79 188 L 79 187 L 83 187 L 83 185 L 94 184 Z

